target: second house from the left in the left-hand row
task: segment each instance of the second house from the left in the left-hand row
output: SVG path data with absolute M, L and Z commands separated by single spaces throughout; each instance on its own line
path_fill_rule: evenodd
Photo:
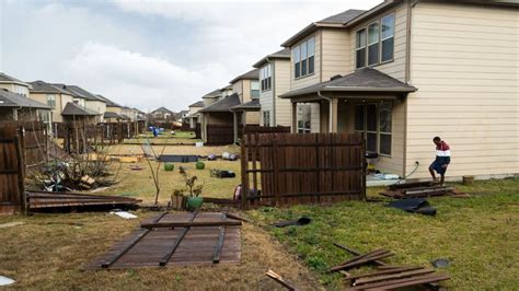
M 62 110 L 67 103 L 73 103 L 73 93 L 44 81 L 30 82 L 30 98 L 47 104 L 50 107 L 53 123 L 62 123 Z

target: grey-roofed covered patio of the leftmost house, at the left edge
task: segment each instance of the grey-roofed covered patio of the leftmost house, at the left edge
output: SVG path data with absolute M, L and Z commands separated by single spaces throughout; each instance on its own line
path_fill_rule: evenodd
M 50 107 L 24 95 L 0 89 L 0 121 L 44 121 L 50 129 Z

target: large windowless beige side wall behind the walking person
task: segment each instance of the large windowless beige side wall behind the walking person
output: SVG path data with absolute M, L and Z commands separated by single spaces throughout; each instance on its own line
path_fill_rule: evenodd
M 419 2 L 413 9 L 407 173 L 427 177 L 434 136 L 448 176 L 519 173 L 517 10 Z

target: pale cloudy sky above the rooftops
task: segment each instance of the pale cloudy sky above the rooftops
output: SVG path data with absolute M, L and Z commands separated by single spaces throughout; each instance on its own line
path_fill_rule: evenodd
M 308 24 L 382 0 L 0 0 L 0 71 L 186 109 Z

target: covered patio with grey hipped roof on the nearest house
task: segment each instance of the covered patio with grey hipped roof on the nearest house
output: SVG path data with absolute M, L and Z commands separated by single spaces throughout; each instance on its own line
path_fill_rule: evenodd
M 292 132 L 362 132 L 373 170 L 403 176 L 406 96 L 416 88 L 366 68 L 281 95 L 292 104 Z M 319 112 L 310 112 L 319 104 Z M 311 123 L 318 119 L 319 123 Z M 310 128 L 318 125 L 319 128 Z

